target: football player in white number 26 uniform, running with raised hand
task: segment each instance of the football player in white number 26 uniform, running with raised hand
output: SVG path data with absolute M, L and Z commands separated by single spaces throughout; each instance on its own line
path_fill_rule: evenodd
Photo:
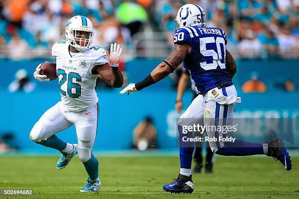
M 93 35 L 92 23 L 85 16 L 72 17 L 66 23 L 66 40 L 60 40 L 52 47 L 61 101 L 47 110 L 30 132 L 32 141 L 62 153 L 57 169 L 65 168 L 78 154 L 88 174 L 87 183 L 81 192 L 98 191 L 101 187 L 99 162 L 92 154 L 99 110 L 94 90 L 97 77 L 100 75 L 115 88 L 123 85 L 123 76 L 118 69 L 122 53 L 120 45 L 111 44 L 108 54 L 103 48 L 92 46 Z M 34 77 L 39 81 L 48 81 L 47 76 L 40 74 L 41 65 L 36 68 Z M 55 135 L 73 124 L 78 145 L 67 143 Z

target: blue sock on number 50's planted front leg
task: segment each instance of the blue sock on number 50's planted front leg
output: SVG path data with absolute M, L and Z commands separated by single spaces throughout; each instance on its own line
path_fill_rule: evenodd
M 181 137 L 184 136 L 184 134 L 182 133 L 183 127 L 181 125 L 177 125 L 177 128 L 178 128 L 178 133 L 179 133 L 179 138 L 180 138 L 181 168 L 191 169 L 194 147 L 187 147 L 190 145 L 190 143 L 188 143 L 188 144 L 186 144 L 186 146 L 184 146 L 184 143 L 181 141 L 182 140 Z

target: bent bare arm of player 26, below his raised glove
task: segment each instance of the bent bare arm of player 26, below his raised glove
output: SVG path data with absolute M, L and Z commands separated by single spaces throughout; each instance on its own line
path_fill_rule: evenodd
M 118 67 L 111 67 L 108 63 L 95 66 L 98 74 L 112 87 L 120 88 L 124 83 L 124 78 Z

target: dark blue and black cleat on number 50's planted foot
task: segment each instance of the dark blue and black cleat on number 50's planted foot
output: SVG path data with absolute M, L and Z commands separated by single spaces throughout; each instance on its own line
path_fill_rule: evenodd
M 191 194 L 193 192 L 192 175 L 190 177 L 179 174 L 177 179 L 173 179 L 174 182 L 163 186 L 163 190 L 171 193 L 186 193 Z

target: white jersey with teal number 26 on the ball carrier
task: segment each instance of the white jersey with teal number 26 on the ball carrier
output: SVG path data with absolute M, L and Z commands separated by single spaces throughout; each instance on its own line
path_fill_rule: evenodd
M 69 111 L 81 112 L 93 107 L 99 100 L 94 90 L 98 75 L 91 74 L 92 68 L 108 60 L 106 51 L 100 47 L 72 55 L 66 40 L 60 40 L 52 47 L 62 104 Z

